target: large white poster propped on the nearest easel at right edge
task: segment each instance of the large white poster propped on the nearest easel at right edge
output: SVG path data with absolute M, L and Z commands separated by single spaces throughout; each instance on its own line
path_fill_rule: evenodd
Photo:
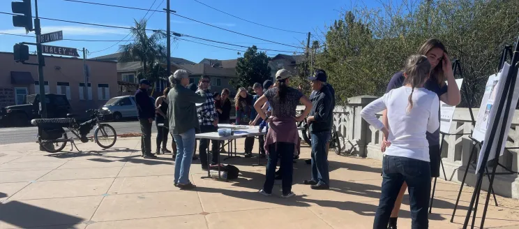
M 476 126 L 474 127 L 474 139 L 479 140 L 481 133 L 484 133 L 483 138 L 483 146 L 481 147 L 481 150 L 479 152 L 478 157 L 478 164 L 476 168 L 476 172 L 479 171 L 479 168 L 481 167 L 481 163 L 483 162 L 483 154 L 485 152 L 485 149 L 488 147 L 488 142 L 492 141 L 492 148 L 490 149 L 490 154 L 488 155 L 488 161 L 495 158 L 497 155 L 496 152 L 499 152 L 499 156 L 502 156 L 504 153 L 504 147 L 506 146 L 506 138 L 503 138 L 503 144 L 501 145 L 501 149 L 497 149 L 497 141 L 499 140 L 499 131 L 502 128 L 502 125 L 505 125 L 505 131 L 504 136 L 508 136 L 510 131 L 510 126 L 512 123 L 512 118 L 514 112 L 516 112 L 516 104 L 519 100 L 519 80 L 516 80 L 516 84 L 513 85 L 514 91 L 512 95 L 512 107 L 509 110 L 508 119 L 504 120 L 504 112 L 500 112 L 497 114 L 497 106 L 499 105 L 499 101 L 501 98 L 504 98 L 504 103 L 506 104 L 506 99 L 508 99 L 508 95 L 502 96 L 504 91 L 504 81 L 506 80 L 506 75 L 508 75 L 510 71 L 510 65 L 508 63 L 505 63 L 502 71 L 500 73 L 497 73 L 497 75 L 491 75 L 489 77 L 489 82 L 492 76 L 494 76 L 494 81 L 487 82 L 485 94 L 483 95 L 483 101 L 481 101 L 481 107 L 479 108 L 478 112 L 478 119 L 476 121 Z M 496 80 L 497 79 L 497 80 Z M 497 81 L 497 82 L 495 82 Z M 486 103 L 485 103 L 486 100 Z M 481 120 L 480 120 L 480 114 L 481 114 Z M 494 120 L 498 119 L 497 123 L 497 131 L 495 135 L 490 136 L 490 130 L 492 129 L 492 125 L 494 124 Z M 478 125 L 479 124 L 479 125 Z M 478 138 L 476 138 L 476 130 L 478 132 Z M 484 132 L 483 132 L 484 131 Z

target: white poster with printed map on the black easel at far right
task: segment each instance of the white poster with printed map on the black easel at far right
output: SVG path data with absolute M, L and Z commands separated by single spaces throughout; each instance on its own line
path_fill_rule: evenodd
M 492 142 L 492 148 L 490 149 L 490 154 L 488 154 L 488 161 L 494 159 L 497 154 L 499 154 L 499 156 L 502 156 L 504 153 L 504 147 L 506 146 L 506 138 L 503 139 L 503 144 L 501 145 L 501 148 L 497 149 L 497 142 L 499 140 L 499 138 L 497 138 L 497 136 L 499 136 L 499 133 L 496 133 L 495 135 L 490 136 L 490 132 L 491 132 L 490 130 L 492 129 L 492 125 L 494 125 L 494 120 L 497 119 L 498 120 L 497 131 L 501 131 L 501 128 L 504 125 L 504 126 L 506 126 L 506 128 L 504 129 L 504 136 L 509 135 L 513 114 L 516 111 L 516 109 L 515 109 L 516 104 L 518 103 L 518 100 L 519 100 L 519 80 L 516 80 L 516 84 L 512 85 L 514 90 L 513 90 L 513 94 L 512 94 L 511 104 L 513 104 L 513 106 L 509 110 L 508 119 L 504 120 L 504 112 L 497 113 L 497 106 L 499 105 L 499 101 L 502 97 L 504 97 L 504 99 L 505 99 L 504 103 L 505 104 L 507 103 L 506 99 L 508 98 L 508 94 L 502 96 L 502 93 L 504 91 L 504 80 L 506 80 L 506 75 L 508 75 L 509 69 L 510 69 L 510 65 L 505 63 L 501 73 L 497 74 L 497 77 L 499 77 L 499 82 L 497 82 L 497 86 L 494 87 L 494 90 L 496 90 L 496 91 L 491 91 L 488 96 L 486 110 L 490 110 L 490 116 L 488 116 L 486 118 L 486 120 L 483 121 L 483 123 L 486 122 L 486 127 L 485 127 L 486 133 L 485 133 L 485 138 L 484 138 L 484 142 L 483 142 L 483 147 L 481 147 L 481 151 L 479 152 L 478 165 L 476 168 L 476 172 L 481 167 L 481 163 L 483 162 L 483 154 L 488 147 L 488 142 Z M 516 76 L 513 76 L 513 77 L 516 77 Z M 487 84 L 487 86 L 488 86 L 488 84 Z M 485 94 L 487 94 L 487 91 L 485 91 Z M 485 98 L 485 97 L 483 96 L 483 98 Z M 489 106 L 490 101 L 492 101 L 491 106 Z M 482 106 L 483 106 L 483 103 L 482 103 Z M 486 112 L 486 110 L 484 112 Z M 481 110 L 479 111 L 479 113 L 481 113 Z M 483 115 L 483 117 L 484 116 L 485 115 Z M 484 120 L 484 119 L 482 119 L 482 120 Z M 474 131 L 474 133 L 475 133 L 475 131 Z M 497 153 L 497 152 L 499 152 L 499 153 Z

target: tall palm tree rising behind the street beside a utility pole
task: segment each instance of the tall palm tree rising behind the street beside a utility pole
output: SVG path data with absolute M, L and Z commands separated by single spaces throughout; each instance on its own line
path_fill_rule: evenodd
M 137 76 L 139 78 L 148 78 L 155 82 L 158 79 L 150 78 L 151 73 L 149 73 L 148 69 L 151 71 L 153 66 L 165 61 L 166 48 L 163 45 L 163 40 L 166 34 L 163 31 L 153 31 L 153 34 L 148 36 L 146 34 L 146 24 L 147 21 L 144 19 L 140 20 L 140 22 L 135 20 L 135 26 L 130 29 L 133 42 L 119 46 L 119 51 L 121 52 L 119 62 L 141 61 L 142 73 L 139 73 Z

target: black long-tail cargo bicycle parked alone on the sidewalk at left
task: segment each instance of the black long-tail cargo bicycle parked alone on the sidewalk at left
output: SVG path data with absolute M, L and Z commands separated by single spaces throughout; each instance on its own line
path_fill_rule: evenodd
M 38 126 L 38 144 L 46 152 L 56 153 L 61 152 L 63 148 L 70 142 L 73 150 L 75 140 L 81 140 L 81 142 L 95 141 L 103 149 L 108 149 L 114 146 L 117 140 L 117 134 L 115 129 L 109 124 L 101 124 L 99 121 L 100 112 L 98 110 L 87 110 L 90 114 L 90 120 L 80 124 L 73 117 L 73 114 L 67 114 L 66 118 L 59 119 L 32 119 L 31 124 Z M 67 128 L 68 131 L 65 131 Z M 90 131 L 93 131 L 93 138 L 87 135 Z M 67 133 L 73 133 L 75 137 L 68 137 Z M 105 144 L 107 143 L 107 144 Z M 77 149 L 77 151 L 80 151 Z

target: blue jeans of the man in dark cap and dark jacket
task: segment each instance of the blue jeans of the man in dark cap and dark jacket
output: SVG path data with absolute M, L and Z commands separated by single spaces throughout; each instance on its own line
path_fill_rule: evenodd
M 328 172 L 328 155 L 326 142 L 331 138 L 330 132 L 310 133 L 312 138 L 312 180 L 319 184 L 330 185 Z

